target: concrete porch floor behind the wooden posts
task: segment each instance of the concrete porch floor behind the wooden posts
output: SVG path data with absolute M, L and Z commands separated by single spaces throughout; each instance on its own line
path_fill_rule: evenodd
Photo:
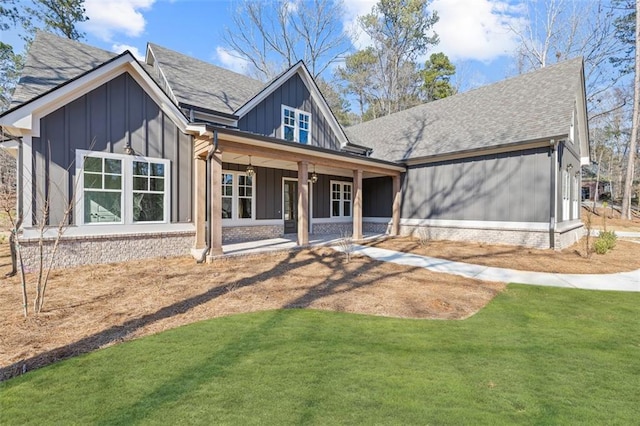
M 362 240 L 375 240 L 378 238 L 385 238 L 387 235 L 385 234 L 363 234 Z M 338 234 L 309 234 L 309 244 L 307 247 L 314 246 L 333 246 L 338 245 L 340 240 L 343 238 L 342 235 Z M 358 243 L 359 241 L 354 241 L 354 243 Z M 245 254 L 254 254 L 254 253 L 264 253 L 270 251 L 284 251 L 284 250 L 292 250 L 298 248 L 298 244 L 296 242 L 296 235 L 290 234 L 285 235 L 281 238 L 270 238 L 267 240 L 255 240 L 255 241 L 244 241 L 241 243 L 231 243 L 231 244 L 223 244 L 222 245 L 222 256 L 241 256 Z

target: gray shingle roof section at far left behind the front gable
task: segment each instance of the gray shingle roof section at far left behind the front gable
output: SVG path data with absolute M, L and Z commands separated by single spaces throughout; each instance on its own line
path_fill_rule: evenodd
M 117 56 L 113 52 L 38 31 L 31 44 L 11 107 L 92 70 Z

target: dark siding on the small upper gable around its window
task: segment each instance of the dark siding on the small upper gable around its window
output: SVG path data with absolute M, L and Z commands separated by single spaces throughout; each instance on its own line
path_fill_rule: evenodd
M 311 145 L 340 150 L 337 136 L 298 74 L 294 74 L 241 117 L 238 128 L 259 135 L 282 138 L 282 105 L 311 114 Z

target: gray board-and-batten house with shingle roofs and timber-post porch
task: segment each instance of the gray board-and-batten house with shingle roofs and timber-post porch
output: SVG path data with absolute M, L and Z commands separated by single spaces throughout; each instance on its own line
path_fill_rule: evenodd
M 302 63 L 264 84 L 155 44 L 138 61 L 39 33 L 0 125 L 23 249 L 48 205 L 69 224 L 58 265 L 421 227 L 561 248 L 582 227 L 579 59 L 345 132 Z

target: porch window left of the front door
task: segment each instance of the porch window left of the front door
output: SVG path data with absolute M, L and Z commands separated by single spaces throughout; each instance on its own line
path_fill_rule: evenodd
M 222 174 L 222 218 L 253 219 L 253 178 L 245 173 Z

